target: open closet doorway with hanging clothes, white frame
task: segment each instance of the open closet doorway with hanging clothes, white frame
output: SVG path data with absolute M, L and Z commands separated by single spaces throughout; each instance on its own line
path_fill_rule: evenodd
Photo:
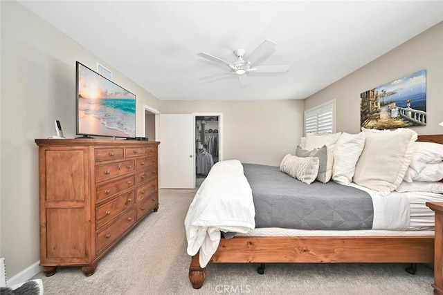
M 195 186 L 199 187 L 212 166 L 223 160 L 221 113 L 194 113 Z

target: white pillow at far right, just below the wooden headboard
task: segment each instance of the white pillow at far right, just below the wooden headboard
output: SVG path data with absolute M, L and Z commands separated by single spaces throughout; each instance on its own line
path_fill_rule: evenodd
M 437 164 L 443 161 L 443 144 L 435 142 L 414 142 L 414 153 L 409 166 L 421 171 L 426 164 Z

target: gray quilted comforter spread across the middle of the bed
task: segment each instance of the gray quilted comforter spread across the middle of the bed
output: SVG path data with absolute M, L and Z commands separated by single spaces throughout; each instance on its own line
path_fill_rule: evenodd
M 305 184 L 277 166 L 243 164 L 255 206 L 255 227 L 372 229 L 372 198 L 330 181 Z

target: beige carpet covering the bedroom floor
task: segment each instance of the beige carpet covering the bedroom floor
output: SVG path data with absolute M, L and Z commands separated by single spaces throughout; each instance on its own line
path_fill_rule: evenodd
M 188 280 L 183 220 L 195 190 L 161 190 L 159 211 L 151 213 L 98 262 L 86 277 L 80 267 L 59 267 L 42 278 L 45 294 L 298 294 L 424 295 L 433 294 L 433 270 L 406 264 L 211 264 L 204 286 Z

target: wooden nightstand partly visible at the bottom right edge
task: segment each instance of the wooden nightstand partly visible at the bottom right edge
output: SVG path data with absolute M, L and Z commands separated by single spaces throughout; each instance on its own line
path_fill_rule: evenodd
M 426 202 L 435 212 L 434 294 L 443 295 L 443 202 Z

